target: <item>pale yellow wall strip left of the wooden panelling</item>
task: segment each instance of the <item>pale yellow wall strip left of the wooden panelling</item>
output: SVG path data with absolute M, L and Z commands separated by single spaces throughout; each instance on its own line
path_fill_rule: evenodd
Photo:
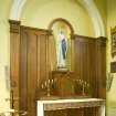
M 9 65 L 10 65 L 10 38 L 9 38 L 9 11 L 12 0 L 0 0 L 0 109 L 9 107 Z

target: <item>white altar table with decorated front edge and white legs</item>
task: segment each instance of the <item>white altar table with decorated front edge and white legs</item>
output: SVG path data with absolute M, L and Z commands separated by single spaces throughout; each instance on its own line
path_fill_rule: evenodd
M 44 116 L 44 112 L 46 110 L 78 109 L 86 107 L 96 107 L 98 109 L 98 116 L 105 116 L 105 101 L 101 98 L 38 101 L 36 114 L 38 116 Z

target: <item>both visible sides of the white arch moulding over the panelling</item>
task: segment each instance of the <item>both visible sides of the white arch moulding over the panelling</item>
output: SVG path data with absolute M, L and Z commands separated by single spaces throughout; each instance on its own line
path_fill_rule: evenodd
M 21 15 L 21 12 L 25 2 L 27 0 L 14 0 L 11 8 L 10 19 L 13 19 L 13 20 L 20 19 L 20 15 Z M 95 35 L 105 36 L 104 23 L 94 1 L 93 0 L 78 0 L 78 2 L 87 10 L 93 21 Z

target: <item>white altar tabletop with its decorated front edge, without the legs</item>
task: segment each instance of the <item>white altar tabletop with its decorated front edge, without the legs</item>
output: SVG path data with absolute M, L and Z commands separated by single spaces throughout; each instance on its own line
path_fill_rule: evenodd
M 38 101 L 38 107 L 44 107 L 44 110 L 56 110 L 81 107 L 105 106 L 105 99 L 102 98 L 82 98 L 82 99 L 53 99 Z

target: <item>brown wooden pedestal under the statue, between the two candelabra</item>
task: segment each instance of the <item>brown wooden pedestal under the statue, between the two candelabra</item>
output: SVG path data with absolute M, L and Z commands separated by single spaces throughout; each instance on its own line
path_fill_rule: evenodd
M 66 70 L 52 71 L 54 80 L 55 94 L 59 96 L 74 95 L 74 73 Z

